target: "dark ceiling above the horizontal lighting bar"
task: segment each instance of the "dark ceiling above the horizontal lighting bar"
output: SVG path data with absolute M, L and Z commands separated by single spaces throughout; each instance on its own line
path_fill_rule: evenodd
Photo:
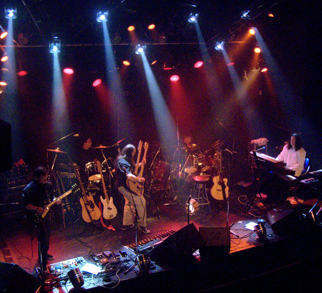
M 196 42 L 194 24 L 187 22 L 191 12 L 200 13 L 200 28 L 205 42 L 209 42 L 230 36 L 244 24 L 240 20 L 242 11 L 250 10 L 255 19 L 276 2 L 279 1 L 21 0 L 4 1 L 0 11 L 9 6 L 17 8 L 14 39 L 20 45 L 48 45 L 53 36 L 59 37 L 62 45 L 102 43 L 96 22 L 99 10 L 109 11 L 110 37 L 113 40 L 118 34 L 120 43 L 130 43 L 130 24 L 136 26 L 138 39 L 147 43 L 159 43 L 160 36 L 165 36 L 166 43 L 189 43 Z M 147 29 L 151 23 L 156 25 L 155 32 Z M 2 13 L 0 24 L 6 28 Z

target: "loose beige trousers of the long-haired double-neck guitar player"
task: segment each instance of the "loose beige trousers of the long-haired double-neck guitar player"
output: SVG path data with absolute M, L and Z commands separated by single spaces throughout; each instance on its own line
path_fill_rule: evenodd
M 118 188 L 119 192 L 124 196 L 124 215 L 123 215 L 123 225 L 132 225 L 134 223 L 135 217 L 135 206 L 137 207 L 138 219 L 137 224 L 141 227 L 147 227 L 147 210 L 146 210 L 146 200 L 143 196 L 138 196 L 135 193 L 131 193 L 125 189 L 123 186 Z

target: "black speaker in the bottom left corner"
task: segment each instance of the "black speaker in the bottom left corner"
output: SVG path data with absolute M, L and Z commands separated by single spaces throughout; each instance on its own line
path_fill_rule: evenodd
M 0 292 L 36 292 L 40 281 L 16 264 L 0 262 Z

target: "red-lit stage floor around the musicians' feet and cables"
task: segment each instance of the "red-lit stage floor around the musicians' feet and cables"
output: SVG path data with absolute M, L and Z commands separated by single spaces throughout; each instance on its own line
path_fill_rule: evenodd
M 184 201 L 185 199 L 182 199 L 181 203 Z M 280 236 L 274 235 L 269 227 L 269 223 L 265 223 L 267 240 L 265 242 L 260 241 L 252 228 L 254 224 L 257 224 L 257 218 L 241 210 L 240 207 L 243 205 L 240 201 L 242 201 L 241 194 L 232 190 L 228 224 L 232 224 L 231 231 L 239 237 L 233 234 L 230 235 L 230 254 L 281 239 Z M 152 239 L 154 236 L 168 230 L 178 231 L 187 225 L 187 213 L 182 204 L 158 206 L 160 216 L 153 217 L 152 215 L 157 213 L 156 206 L 153 201 L 147 205 L 147 228 L 151 233 L 143 234 L 138 231 L 138 241 L 147 240 L 148 238 Z M 199 227 L 225 227 L 227 223 L 227 210 L 222 206 L 222 202 L 211 199 L 211 208 L 212 212 L 209 211 L 207 205 L 201 206 L 195 215 L 190 216 L 190 222 L 193 222 L 197 229 Z M 264 215 L 262 218 L 266 220 L 266 211 L 261 210 L 260 212 Z M 103 228 L 99 222 L 93 226 L 92 224 L 85 223 L 82 219 L 68 223 L 65 229 L 60 228 L 58 223 L 52 223 L 49 253 L 54 255 L 55 259 L 49 261 L 48 264 L 79 257 L 83 257 L 87 262 L 94 263 L 91 257 L 92 254 L 99 254 L 109 250 L 118 251 L 124 248 L 124 246 L 135 243 L 135 229 L 122 231 L 120 229 L 121 219 L 119 216 L 112 220 L 112 226 L 115 228 L 115 231 Z M 7 257 L 10 254 L 14 263 L 18 264 L 28 273 L 35 274 L 36 268 L 39 266 L 38 242 L 36 238 L 31 241 L 31 236 L 27 230 L 27 224 L 24 220 L 8 222 L 8 225 L 2 229 L 2 237 L 7 246 Z M 135 255 L 129 251 L 128 256 L 129 259 L 124 263 L 124 268 L 129 267 L 133 263 L 132 260 L 135 259 Z M 150 273 L 153 274 L 160 270 L 162 269 L 156 266 L 156 269 L 151 270 Z M 137 267 L 127 275 L 124 275 L 124 272 L 120 272 L 120 280 L 135 278 L 138 273 L 139 269 Z M 53 275 L 50 276 L 50 278 L 54 277 Z M 99 285 L 113 287 L 118 283 L 118 277 L 115 274 L 105 280 L 101 276 L 94 276 L 92 278 L 92 275 L 84 275 L 84 279 L 84 288 L 93 288 Z M 68 292 L 73 288 L 69 280 L 64 283 L 64 286 L 53 288 L 47 292 Z

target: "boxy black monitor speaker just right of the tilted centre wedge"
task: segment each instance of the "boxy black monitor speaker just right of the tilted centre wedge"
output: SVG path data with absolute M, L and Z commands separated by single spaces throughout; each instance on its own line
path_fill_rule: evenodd
M 229 227 L 199 227 L 205 245 L 199 249 L 201 259 L 212 259 L 230 252 Z

